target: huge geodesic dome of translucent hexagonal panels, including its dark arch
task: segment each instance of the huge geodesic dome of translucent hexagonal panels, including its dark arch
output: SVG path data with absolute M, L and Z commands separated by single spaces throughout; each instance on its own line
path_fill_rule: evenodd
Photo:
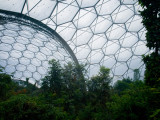
M 97 74 L 103 65 L 111 69 L 116 80 L 132 77 L 134 69 L 139 69 L 143 78 L 141 55 L 149 50 L 137 0 L 0 0 L 0 3 L 0 64 L 6 72 L 40 80 L 45 75 L 43 71 L 47 71 L 43 63 L 55 58 L 61 63 L 87 63 L 88 76 Z

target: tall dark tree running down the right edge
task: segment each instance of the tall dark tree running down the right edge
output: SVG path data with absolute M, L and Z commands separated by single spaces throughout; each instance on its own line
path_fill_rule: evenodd
M 160 85 L 160 0 L 139 0 L 143 7 L 141 16 L 145 26 L 146 46 L 154 50 L 150 55 L 143 56 L 146 65 L 145 81 L 152 87 Z

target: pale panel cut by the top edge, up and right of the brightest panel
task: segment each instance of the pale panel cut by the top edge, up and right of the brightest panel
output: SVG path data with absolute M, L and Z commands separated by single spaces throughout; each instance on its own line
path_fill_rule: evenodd
M 119 5 L 119 0 L 100 0 L 96 5 L 96 10 L 99 15 L 111 14 Z

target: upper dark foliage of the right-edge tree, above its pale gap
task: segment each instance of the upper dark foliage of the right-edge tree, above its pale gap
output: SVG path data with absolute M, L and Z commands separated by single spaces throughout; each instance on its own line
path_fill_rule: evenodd
M 141 16 L 143 25 L 147 29 L 147 47 L 155 49 L 158 54 L 160 48 L 160 1 L 159 0 L 139 0 L 143 7 Z

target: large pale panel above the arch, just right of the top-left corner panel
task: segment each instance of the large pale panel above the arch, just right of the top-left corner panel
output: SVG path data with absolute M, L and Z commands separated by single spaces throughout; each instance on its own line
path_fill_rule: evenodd
M 30 1 L 29 4 L 32 4 L 32 2 Z M 29 12 L 29 15 L 38 20 L 43 20 L 51 15 L 55 5 L 55 1 L 42 0 Z

